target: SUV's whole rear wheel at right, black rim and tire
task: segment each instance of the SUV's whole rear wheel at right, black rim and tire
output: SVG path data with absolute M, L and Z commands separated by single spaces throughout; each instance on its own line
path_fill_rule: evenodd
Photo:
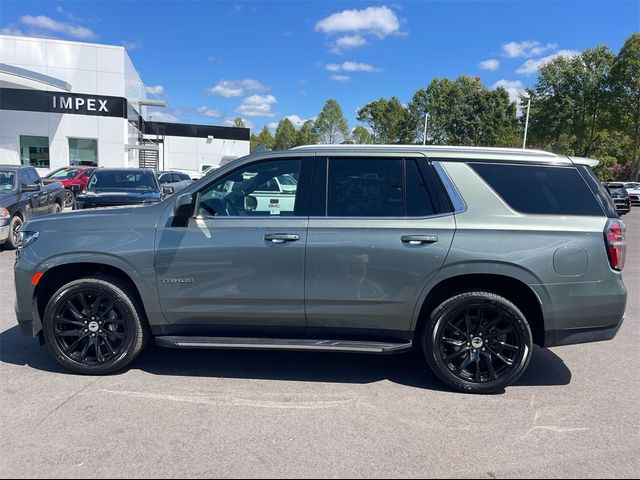
M 469 393 L 503 391 L 527 369 L 533 350 L 531 328 L 518 307 L 485 291 L 460 293 L 440 304 L 420 341 L 433 373 Z

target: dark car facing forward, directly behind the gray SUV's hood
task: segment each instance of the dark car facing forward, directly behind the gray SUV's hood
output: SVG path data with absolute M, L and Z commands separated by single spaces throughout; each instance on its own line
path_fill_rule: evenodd
M 160 187 L 151 169 L 100 168 L 93 172 L 85 191 L 76 197 L 73 209 L 149 205 L 170 193 L 173 189 Z

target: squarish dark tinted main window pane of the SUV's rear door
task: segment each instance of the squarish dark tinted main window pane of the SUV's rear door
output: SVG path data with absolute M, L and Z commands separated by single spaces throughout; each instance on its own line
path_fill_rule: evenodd
M 329 160 L 327 215 L 404 216 L 402 159 Z

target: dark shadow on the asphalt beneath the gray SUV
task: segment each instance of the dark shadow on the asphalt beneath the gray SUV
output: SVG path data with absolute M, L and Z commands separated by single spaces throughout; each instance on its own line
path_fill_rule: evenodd
M 0 362 L 69 374 L 32 338 L 13 327 L 0 333 Z M 159 376 L 217 377 L 253 380 L 368 384 L 389 380 L 401 385 L 451 391 L 415 353 L 358 355 L 346 353 L 178 350 L 149 344 L 128 370 Z M 534 348 L 518 386 L 554 386 L 571 382 L 571 371 L 547 349 Z

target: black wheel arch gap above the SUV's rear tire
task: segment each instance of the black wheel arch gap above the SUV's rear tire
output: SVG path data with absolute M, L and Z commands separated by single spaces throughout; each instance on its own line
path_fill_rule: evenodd
M 416 336 L 423 328 L 431 312 L 444 300 L 458 293 L 483 290 L 501 295 L 513 302 L 525 315 L 531 327 L 533 342 L 543 346 L 545 322 L 541 300 L 534 290 L 522 280 L 503 274 L 469 273 L 455 275 L 436 282 L 428 290 L 419 308 L 416 308 L 414 325 Z

